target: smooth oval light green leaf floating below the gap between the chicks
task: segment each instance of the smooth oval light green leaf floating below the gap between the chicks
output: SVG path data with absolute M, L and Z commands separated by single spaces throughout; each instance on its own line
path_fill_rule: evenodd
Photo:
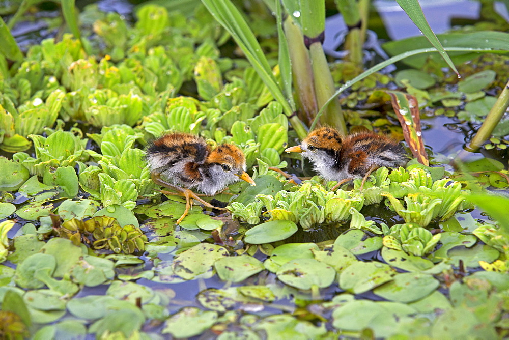
M 251 244 L 276 242 L 289 238 L 297 230 L 297 224 L 292 221 L 269 221 L 249 229 L 245 234 L 244 241 Z

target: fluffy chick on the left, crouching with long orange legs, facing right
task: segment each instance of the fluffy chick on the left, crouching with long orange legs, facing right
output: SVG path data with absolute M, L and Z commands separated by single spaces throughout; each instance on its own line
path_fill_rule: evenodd
M 245 172 L 246 161 L 239 148 L 221 144 L 212 149 L 204 138 L 188 133 L 166 134 L 150 142 L 145 159 L 154 183 L 176 191 L 162 193 L 186 199 L 186 210 L 177 224 L 187 215 L 192 200 L 213 207 L 192 189 L 203 192 L 201 196 L 212 196 L 239 180 L 256 185 Z

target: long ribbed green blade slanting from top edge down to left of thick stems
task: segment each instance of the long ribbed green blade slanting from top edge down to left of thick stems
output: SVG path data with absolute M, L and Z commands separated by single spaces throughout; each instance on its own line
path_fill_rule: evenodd
M 232 35 L 274 99 L 283 106 L 285 114 L 291 116 L 293 109 L 279 88 L 262 47 L 239 10 L 230 0 L 202 0 L 202 2 L 214 18 Z

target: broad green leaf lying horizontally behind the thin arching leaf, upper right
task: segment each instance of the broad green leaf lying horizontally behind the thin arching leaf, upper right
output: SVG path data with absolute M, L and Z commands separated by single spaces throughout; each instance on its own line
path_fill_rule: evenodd
M 491 48 L 494 50 L 509 51 L 509 34 L 503 32 L 479 31 L 471 33 L 447 33 L 439 34 L 437 37 L 445 48 L 471 47 L 474 49 Z M 383 44 L 382 47 L 389 55 L 398 55 L 409 50 L 426 48 L 428 47 L 428 40 L 422 36 L 411 37 L 398 41 L 387 42 Z M 449 55 L 455 64 L 459 64 L 475 58 L 475 56 L 478 55 L 478 52 L 467 49 L 461 52 L 450 52 Z M 405 59 L 403 63 L 414 68 L 421 68 L 428 58 L 430 58 L 428 55 L 415 55 L 411 58 Z M 439 54 L 435 54 L 434 56 L 431 55 L 431 58 L 434 59 L 434 62 L 445 65 Z

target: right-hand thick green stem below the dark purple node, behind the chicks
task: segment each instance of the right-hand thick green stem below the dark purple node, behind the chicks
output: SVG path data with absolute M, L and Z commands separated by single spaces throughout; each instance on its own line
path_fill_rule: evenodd
M 325 58 L 322 43 L 316 41 L 311 44 L 309 46 L 309 54 L 311 56 L 313 74 L 315 75 L 315 91 L 318 106 L 323 107 L 334 94 L 334 80 Z M 343 118 L 340 100 L 337 97 L 329 100 L 330 105 L 326 106 L 324 117 L 320 120 L 320 123 L 336 127 L 341 133 L 346 134 L 347 127 Z M 315 117 L 314 124 L 316 124 L 316 121 L 317 117 Z

